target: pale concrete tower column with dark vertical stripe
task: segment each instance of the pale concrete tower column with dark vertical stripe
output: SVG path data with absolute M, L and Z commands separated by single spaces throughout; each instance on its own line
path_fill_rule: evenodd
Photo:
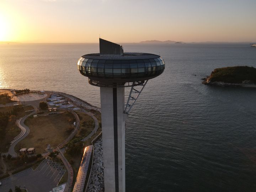
M 100 87 L 100 94 L 105 191 L 124 192 L 124 87 Z

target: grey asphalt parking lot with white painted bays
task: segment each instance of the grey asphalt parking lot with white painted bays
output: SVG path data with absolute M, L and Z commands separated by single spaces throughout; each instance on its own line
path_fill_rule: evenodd
M 14 191 L 16 185 L 28 191 L 49 192 L 58 185 L 65 171 L 60 164 L 45 159 L 35 171 L 30 168 L 1 180 L 0 191 L 8 192 L 10 188 Z

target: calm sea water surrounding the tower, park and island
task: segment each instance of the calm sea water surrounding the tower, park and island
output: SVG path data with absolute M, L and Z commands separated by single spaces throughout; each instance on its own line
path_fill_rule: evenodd
M 256 49 L 123 46 L 160 53 L 166 63 L 126 121 L 127 191 L 255 191 L 256 89 L 206 86 L 201 78 L 219 67 L 256 67 Z M 100 106 L 99 88 L 76 68 L 81 55 L 98 51 L 98 44 L 0 45 L 0 88 L 62 91 Z

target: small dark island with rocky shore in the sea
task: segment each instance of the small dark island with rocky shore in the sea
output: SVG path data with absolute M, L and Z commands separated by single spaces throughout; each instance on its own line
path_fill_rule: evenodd
M 256 68 L 249 66 L 217 68 L 202 80 L 205 85 L 256 87 Z

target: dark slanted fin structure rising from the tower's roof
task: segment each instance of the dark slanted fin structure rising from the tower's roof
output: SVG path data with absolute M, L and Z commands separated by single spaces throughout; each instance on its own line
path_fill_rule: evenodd
M 100 38 L 100 55 L 120 55 L 123 56 L 123 47 Z

